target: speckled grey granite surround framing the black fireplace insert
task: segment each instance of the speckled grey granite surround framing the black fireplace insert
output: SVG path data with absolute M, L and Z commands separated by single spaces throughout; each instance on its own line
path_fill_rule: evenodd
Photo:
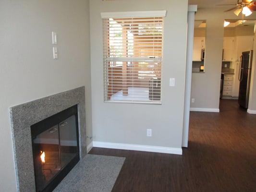
M 80 159 L 86 155 L 85 87 L 40 98 L 10 108 L 18 192 L 36 192 L 30 126 L 78 105 Z

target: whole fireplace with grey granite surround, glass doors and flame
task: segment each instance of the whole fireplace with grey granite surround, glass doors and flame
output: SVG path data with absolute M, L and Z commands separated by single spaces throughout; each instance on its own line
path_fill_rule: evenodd
M 13 106 L 10 118 L 18 192 L 52 191 L 85 157 L 84 86 Z

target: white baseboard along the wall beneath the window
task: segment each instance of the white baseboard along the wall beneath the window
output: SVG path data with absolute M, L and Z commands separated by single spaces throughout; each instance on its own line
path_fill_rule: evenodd
M 133 150 L 133 151 L 147 151 L 147 152 L 182 155 L 182 148 L 160 147 L 160 146 L 139 145 L 139 144 L 119 144 L 119 143 L 107 143 L 107 142 L 98 142 L 98 141 L 94 141 L 93 146 L 110 148 L 110 149 L 124 149 L 124 150 Z

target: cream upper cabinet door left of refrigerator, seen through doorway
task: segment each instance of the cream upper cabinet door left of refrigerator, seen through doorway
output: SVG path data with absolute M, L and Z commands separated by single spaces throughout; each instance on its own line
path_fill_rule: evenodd
M 234 38 L 223 38 L 223 61 L 232 61 L 234 53 Z

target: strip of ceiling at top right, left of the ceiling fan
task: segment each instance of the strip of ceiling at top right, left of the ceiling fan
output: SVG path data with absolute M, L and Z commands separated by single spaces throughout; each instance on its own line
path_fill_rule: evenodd
M 216 6 L 218 4 L 236 4 L 237 0 L 188 0 L 190 5 L 198 5 L 198 8 L 215 8 L 215 7 L 232 7 L 231 6 Z M 234 7 L 234 6 L 233 6 Z

